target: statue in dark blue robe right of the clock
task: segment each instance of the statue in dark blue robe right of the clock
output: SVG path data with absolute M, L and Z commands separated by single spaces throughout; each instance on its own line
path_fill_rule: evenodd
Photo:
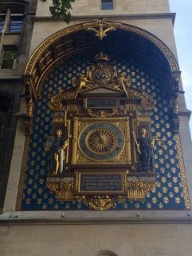
M 154 172 L 154 159 L 153 149 L 155 146 L 155 138 L 151 141 L 146 137 L 147 130 L 142 128 L 140 130 L 140 137 L 138 140 L 135 138 L 135 144 L 137 148 L 138 158 L 138 170 L 140 173 L 153 173 Z

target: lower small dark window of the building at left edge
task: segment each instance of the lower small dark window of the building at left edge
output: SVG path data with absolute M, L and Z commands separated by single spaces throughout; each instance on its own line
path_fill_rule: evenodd
M 4 48 L 2 56 L 1 69 L 14 69 L 16 66 L 16 59 L 18 57 L 18 50 L 15 46 Z

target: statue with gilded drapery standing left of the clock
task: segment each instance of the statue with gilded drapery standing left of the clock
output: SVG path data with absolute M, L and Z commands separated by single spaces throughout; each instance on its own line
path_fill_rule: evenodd
M 55 138 L 50 148 L 49 167 L 51 174 L 62 174 L 65 162 L 65 149 L 68 146 L 68 140 L 62 136 L 62 131 L 56 131 Z

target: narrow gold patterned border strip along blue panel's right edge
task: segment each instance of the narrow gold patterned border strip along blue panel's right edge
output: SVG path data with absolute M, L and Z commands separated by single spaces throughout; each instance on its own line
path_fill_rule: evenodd
M 181 180 L 182 180 L 182 191 L 183 191 L 183 198 L 185 201 L 185 206 L 186 210 L 190 210 L 190 196 L 189 196 L 189 191 L 187 188 L 187 183 L 186 183 L 186 171 L 185 171 L 185 165 L 184 165 L 184 160 L 183 160 L 183 154 L 182 154 L 182 144 L 181 144 L 181 139 L 179 134 L 174 135 L 175 142 L 176 142 L 176 147 L 178 151 L 178 166 L 180 169 L 180 175 L 181 175 Z

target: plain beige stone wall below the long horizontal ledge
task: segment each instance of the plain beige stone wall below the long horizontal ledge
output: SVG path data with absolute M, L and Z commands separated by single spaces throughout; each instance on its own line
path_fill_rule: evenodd
M 2 256 L 190 256 L 192 229 L 185 224 L 1 226 Z

